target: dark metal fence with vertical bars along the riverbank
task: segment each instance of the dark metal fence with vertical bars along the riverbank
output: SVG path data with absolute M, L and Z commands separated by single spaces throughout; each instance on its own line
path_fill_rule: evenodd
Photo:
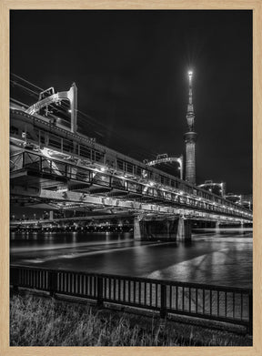
M 244 325 L 252 333 L 252 290 L 68 270 L 11 266 L 10 285 L 146 310 Z

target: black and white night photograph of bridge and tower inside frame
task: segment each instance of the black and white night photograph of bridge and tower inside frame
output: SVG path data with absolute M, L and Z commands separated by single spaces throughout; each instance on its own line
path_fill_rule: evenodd
M 252 33 L 10 10 L 10 346 L 253 345 Z

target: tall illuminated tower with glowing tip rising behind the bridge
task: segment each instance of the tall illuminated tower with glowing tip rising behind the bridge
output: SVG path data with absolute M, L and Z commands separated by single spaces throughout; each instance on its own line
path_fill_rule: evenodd
M 188 131 L 185 134 L 186 143 L 186 180 L 196 184 L 196 132 L 194 131 L 195 113 L 193 107 L 193 90 L 192 90 L 193 71 L 188 71 L 188 104 L 186 111 L 186 122 Z

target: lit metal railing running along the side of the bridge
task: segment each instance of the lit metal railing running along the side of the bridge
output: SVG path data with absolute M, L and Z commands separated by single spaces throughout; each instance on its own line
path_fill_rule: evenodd
M 227 217 L 239 217 L 241 219 L 250 219 L 247 212 L 243 209 L 233 210 L 229 206 L 213 204 L 212 201 L 202 201 L 198 198 L 186 198 L 177 192 L 165 191 L 161 188 L 148 187 L 146 184 L 129 181 L 124 178 L 117 178 L 113 175 L 96 172 L 90 168 L 78 167 L 76 164 L 65 163 L 53 158 L 45 158 L 40 154 L 31 152 L 19 152 L 11 156 L 11 172 L 26 169 L 34 174 L 45 175 L 45 177 L 55 177 L 65 182 L 66 179 L 83 182 L 88 185 L 96 185 L 106 188 L 117 188 L 126 193 L 136 194 L 142 198 L 149 198 L 162 201 L 170 205 L 181 208 L 191 208 L 201 211 L 207 211 L 214 214 L 222 214 Z M 226 203 L 225 203 L 226 204 Z M 228 203 L 229 204 L 229 203 Z M 231 204 L 231 203 L 230 203 Z M 229 205 L 230 205 L 229 204 Z

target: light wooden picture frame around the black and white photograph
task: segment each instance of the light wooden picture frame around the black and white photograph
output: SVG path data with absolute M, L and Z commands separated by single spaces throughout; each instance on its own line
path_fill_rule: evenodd
M 0 355 L 262 355 L 262 0 L 0 0 Z M 249 9 L 253 10 L 253 347 L 10 347 L 9 346 L 9 10 Z

